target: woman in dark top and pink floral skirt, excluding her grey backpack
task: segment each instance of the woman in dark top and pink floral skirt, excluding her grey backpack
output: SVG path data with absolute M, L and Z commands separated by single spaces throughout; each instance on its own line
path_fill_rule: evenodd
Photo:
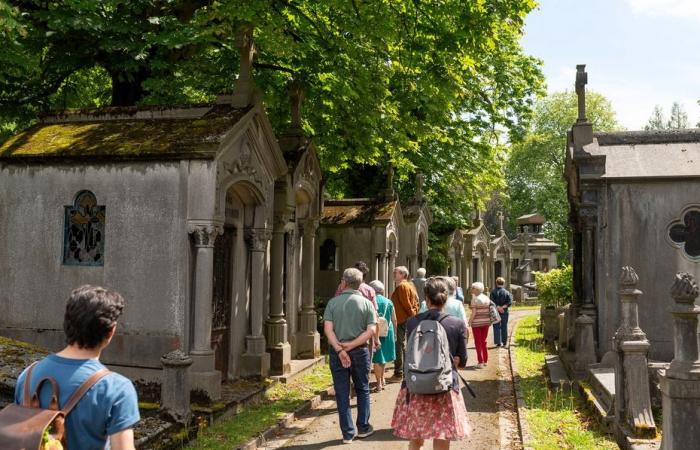
M 424 320 L 438 321 L 442 325 L 449 344 L 448 357 L 452 359 L 447 369 L 449 371 L 451 366 L 452 382 L 447 380 L 445 392 L 417 394 L 409 392 L 404 381 L 396 399 L 391 426 L 394 436 L 410 439 L 409 450 L 422 449 L 426 439 L 433 440 L 434 449 L 446 450 L 450 448 L 450 441 L 466 437 L 470 430 L 457 374 L 457 367 L 463 367 L 467 360 L 464 322 L 444 313 L 448 296 L 445 280 L 429 278 L 425 283 L 425 294 L 428 311 L 409 319 L 406 331 L 411 336 Z

